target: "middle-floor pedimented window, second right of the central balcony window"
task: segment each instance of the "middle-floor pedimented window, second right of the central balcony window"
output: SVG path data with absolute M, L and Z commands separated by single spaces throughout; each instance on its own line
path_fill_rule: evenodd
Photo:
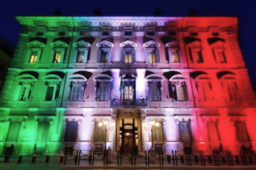
M 188 101 L 188 87 L 187 87 L 188 79 L 181 75 L 174 75 L 171 79 L 171 94 L 173 99 L 176 101 Z

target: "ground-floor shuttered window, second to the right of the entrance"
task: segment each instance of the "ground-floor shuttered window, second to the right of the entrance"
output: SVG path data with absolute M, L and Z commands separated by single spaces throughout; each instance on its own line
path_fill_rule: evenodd
M 179 128 L 180 140 L 182 142 L 192 142 L 193 141 L 190 122 L 185 122 L 185 121 L 179 122 L 178 128 Z

